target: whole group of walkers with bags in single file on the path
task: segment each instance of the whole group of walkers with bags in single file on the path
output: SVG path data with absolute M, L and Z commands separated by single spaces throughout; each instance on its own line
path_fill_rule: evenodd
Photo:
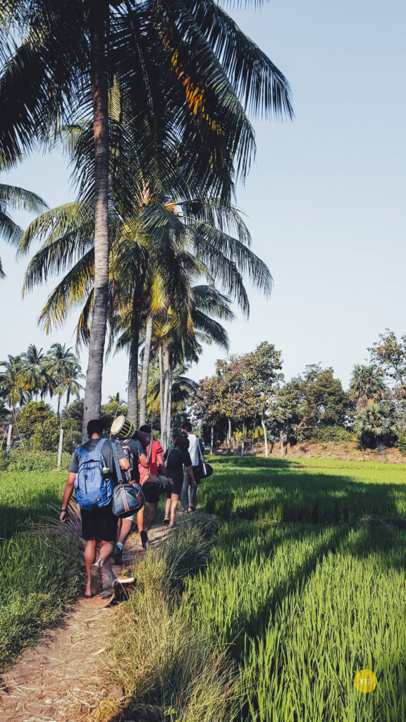
M 137 544 L 143 549 L 150 546 L 148 531 L 161 494 L 165 495 L 164 526 L 175 526 L 179 497 L 183 513 L 196 510 L 205 466 L 202 440 L 191 432 L 190 422 L 183 424 L 165 452 L 152 438 L 150 426 L 137 430 L 125 417 L 116 419 L 111 435 L 116 439 L 105 438 L 103 419 L 88 423 L 88 440 L 72 455 L 62 498 L 62 522 L 68 521 L 73 492 L 80 508 L 87 597 L 100 592 L 101 568 L 111 557 L 117 565 L 123 564 L 123 548 L 134 520 Z

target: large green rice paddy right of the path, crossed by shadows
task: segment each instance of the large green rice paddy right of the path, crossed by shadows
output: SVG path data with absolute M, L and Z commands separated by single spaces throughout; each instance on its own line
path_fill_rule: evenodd
M 405 482 L 402 465 L 215 460 L 200 503 L 223 524 L 184 604 L 238 664 L 241 720 L 406 720 Z

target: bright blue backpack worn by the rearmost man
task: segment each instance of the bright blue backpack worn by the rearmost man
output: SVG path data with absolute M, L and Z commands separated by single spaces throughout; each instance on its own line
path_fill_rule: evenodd
M 105 439 L 100 439 L 92 451 L 78 446 L 79 469 L 74 480 L 74 496 L 81 509 L 91 511 L 95 506 L 107 506 L 113 496 L 111 471 L 103 476 L 105 460 L 101 453 Z

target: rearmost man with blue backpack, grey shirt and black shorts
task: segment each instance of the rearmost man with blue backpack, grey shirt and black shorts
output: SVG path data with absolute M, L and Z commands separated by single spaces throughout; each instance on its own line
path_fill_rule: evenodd
M 82 517 L 82 536 L 86 541 L 87 597 L 101 591 L 100 569 L 108 557 L 111 557 L 117 537 L 118 519 L 113 514 L 112 502 L 113 488 L 117 481 L 113 446 L 110 440 L 105 439 L 104 433 L 103 419 L 92 419 L 87 424 L 89 440 L 78 446 L 72 455 L 59 517 L 62 522 L 68 521 L 67 507 L 75 490 Z M 127 471 L 129 460 L 117 442 L 116 454 L 120 468 Z M 98 541 L 101 544 L 96 564 Z

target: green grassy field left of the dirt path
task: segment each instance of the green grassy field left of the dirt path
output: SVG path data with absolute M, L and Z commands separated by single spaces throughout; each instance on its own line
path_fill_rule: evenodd
M 0 668 L 55 624 L 79 591 L 76 541 L 44 524 L 57 517 L 65 479 L 0 473 Z

